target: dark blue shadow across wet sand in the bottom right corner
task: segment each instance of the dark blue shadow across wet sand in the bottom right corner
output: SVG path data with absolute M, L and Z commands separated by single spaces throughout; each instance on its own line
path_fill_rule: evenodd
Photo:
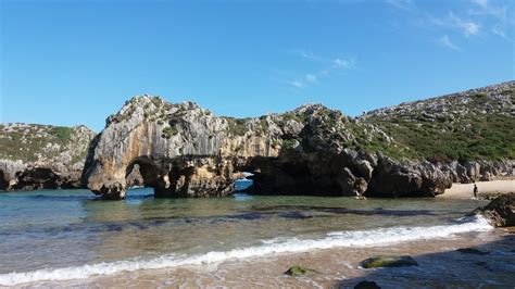
M 452 248 L 452 244 L 450 247 Z M 504 235 L 499 241 L 473 247 L 473 250 L 456 249 L 413 255 L 418 263 L 417 266 L 367 269 L 359 267 L 365 272 L 364 276 L 346 279 L 337 287 L 354 288 L 359 282 L 366 280 L 375 281 L 380 288 L 513 288 L 514 234 Z M 398 254 L 404 253 L 399 251 Z M 364 257 L 372 256 L 374 255 Z M 359 266 L 359 264 L 352 265 Z

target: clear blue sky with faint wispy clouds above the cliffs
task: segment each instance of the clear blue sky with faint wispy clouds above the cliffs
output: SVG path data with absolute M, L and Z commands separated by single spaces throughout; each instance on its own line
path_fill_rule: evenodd
M 1 2 L 0 121 L 100 131 L 136 95 L 357 115 L 514 79 L 514 1 Z

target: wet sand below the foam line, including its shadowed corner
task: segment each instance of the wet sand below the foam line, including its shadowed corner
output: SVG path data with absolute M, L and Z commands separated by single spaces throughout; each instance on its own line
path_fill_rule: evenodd
M 476 248 L 486 255 L 457 252 Z M 353 288 L 361 280 L 382 288 L 511 287 L 515 282 L 515 235 L 504 229 L 419 240 L 374 248 L 342 248 L 274 256 L 229 260 L 217 264 L 138 271 L 87 280 L 39 282 L 36 286 L 123 288 Z M 418 266 L 364 269 L 360 262 L 374 255 L 412 255 Z M 290 277 L 290 266 L 316 273 Z

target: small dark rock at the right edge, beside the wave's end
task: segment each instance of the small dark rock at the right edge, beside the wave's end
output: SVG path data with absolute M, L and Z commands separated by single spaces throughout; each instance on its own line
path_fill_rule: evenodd
M 500 196 L 473 214 L 483 215 L 494 227 L 515 226 L 515 192 Z

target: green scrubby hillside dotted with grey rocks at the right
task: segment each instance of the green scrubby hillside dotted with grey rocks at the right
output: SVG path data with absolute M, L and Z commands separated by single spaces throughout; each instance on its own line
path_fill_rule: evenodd
M 515 159 L 514 100 L 512 87 L 379 110 L 365 115 L 362 123 L 392 137 L 397 148 L 381 140 L 359 139 L 359 143 L 398 158 L 434 162 Z

